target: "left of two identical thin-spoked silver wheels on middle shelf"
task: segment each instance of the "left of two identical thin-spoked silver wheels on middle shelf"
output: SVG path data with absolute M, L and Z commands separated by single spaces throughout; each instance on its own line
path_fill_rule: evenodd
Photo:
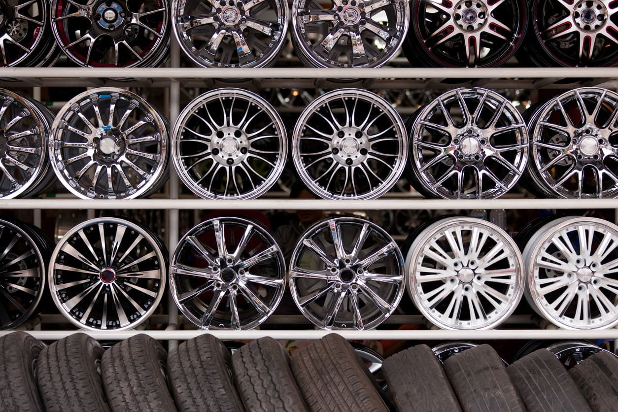
M 172 161 L 206 199 L 252 199 L 277 182 L 287 159 L 286 127 L 265 99 L 237 88 L 208 91 L 180 113 Z

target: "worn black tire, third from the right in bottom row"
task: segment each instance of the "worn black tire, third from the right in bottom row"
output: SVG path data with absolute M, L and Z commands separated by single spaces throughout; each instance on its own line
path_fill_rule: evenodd
M 504 362 L 489 345 L 449 357 L 444 371 L 465 411 L 525 411 Z

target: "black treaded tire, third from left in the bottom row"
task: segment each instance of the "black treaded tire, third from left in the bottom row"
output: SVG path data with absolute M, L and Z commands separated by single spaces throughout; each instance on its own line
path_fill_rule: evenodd
M 122 340 L 101 359 L 103 389 L 114 411 L 176 411 L 167 389 L 167 353 L 155 339 L 140 334 Z

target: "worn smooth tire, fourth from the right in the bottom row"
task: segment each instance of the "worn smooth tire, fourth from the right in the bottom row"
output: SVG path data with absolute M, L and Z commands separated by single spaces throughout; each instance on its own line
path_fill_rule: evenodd
M 427 345 L 386 358 L 382 373 L 399 411 L 460 411 L 442 365 Z

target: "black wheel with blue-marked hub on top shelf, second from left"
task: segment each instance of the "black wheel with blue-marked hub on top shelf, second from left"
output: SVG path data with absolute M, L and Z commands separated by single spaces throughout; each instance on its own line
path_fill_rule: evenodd
M 52 0 L 51 27 L 80 66 L 156 67 L 169 48 L 166 0 Z

